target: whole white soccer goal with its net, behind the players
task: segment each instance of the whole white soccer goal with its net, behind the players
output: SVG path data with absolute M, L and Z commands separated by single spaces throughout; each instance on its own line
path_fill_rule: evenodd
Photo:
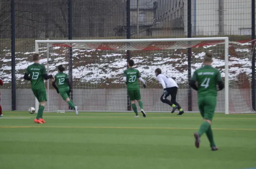
M 188 48 L 191 48 L 191 57 L 188 57 Z M 79 110 L 101 112 L 129 109 L 126 85 L 121 81 L 127 69 L 127 51 L 147 84 L 146 89 L 140 84 L 147 112 L 170 112 L 170 107 L 160 101 L 163 89 L 154 75 L 156 68 L 175 78 L 180 106 L 186 112 L 198 112 L 197 92 L 190 89 L 188 83 L 190 73 L 202 66 L 202 57 L 207 51 L 212 52 L 212 66 L 221 71 L 225 82 L 225 88 L 218 92 L 216 112 L 252 112 L 251 49 L 251 42 L 229 42 L 228 37 L 35 41 L 35 52 L 40 54 L 40 63 L 49 74 L 57 74 L 57 66 L 62 64 L 72 77 L 72 97 Z M 67 103 L 49 81 L 46 86 L 45 110 L 68 110 Z M 38 110 L 37 100 L 35 108 Z

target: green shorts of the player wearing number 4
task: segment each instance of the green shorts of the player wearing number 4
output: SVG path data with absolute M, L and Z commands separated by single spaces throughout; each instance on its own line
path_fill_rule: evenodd
M 212 121 L 215 112 L 216 102 L 216 96 L 198 97 L 198 108 L 203 118 Z

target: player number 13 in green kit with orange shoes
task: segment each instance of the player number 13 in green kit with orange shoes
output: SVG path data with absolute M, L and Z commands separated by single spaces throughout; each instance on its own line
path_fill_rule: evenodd
M 24 74 L 24 79 L 29 80 L 31 83 L 31 89 L 35 97 L 38 99 L 40 106 L 37 116 L 34 120 L 35 123 L 45 123 L 43 119 L 44 107 L 46 106 L 47 94 L 44 85 L 44 80 L 53 79 L 52 75 L 47 75 L 44 65 L 39 64 L 39 54 L 33 54 L 34 64 L 29 65 Z M 29 77 L 30 74 L 30 77 Z

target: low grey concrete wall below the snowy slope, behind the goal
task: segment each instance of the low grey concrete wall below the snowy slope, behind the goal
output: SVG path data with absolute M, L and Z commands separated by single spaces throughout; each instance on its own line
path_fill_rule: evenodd
M 170 111 L 170 107 L 160 101 L 163 89 L 141 89 L 145 111 Z M 28 110 L 35 106 L 35 97 L 30 89 L 17 89 L 17 110 Z M 75 89 L 74 103 L 85 111 L 126 111 L 126 89 Z M 230 89 L 230 111 L 250 111 L 250 89 Z M 186 89 L 179 89 L 177 101 L 187 111 Z M 3 110 L 11 110 L 11 89 L 1 90 Z M 61 97 L 50 90 L 45 111 L 67 110 Z M 192 110 L 198 111 L 197 94 L 193 91 Z M 224 91 L 218 92 L 216 112 L 224 112 Z

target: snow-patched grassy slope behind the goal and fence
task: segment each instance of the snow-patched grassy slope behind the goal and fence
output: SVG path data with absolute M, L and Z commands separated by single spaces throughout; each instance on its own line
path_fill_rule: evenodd
M 240 44 L 236 46 L 234 51 L 229 56 L 229 78 L 230 80 L 238 80 L 239 74 L 250 76 L 251 74 L 251 50 L 250 43 Z M 224 77 L 224 57 L 221 56 L 221 49 L 216 45 L 204 46 L 204 49 L 210 48 L 213 53 L 212 66 L 220 70 L 221 76 Z M 213 49 L 212 49 L 213 48 Z M 214 49 L 216 48 L 216 49 Z M 223 49 L 222 49 L 223 50 Z M 42 47 L 39 50 L 41 60 L 40 63 L 47 66 L 49 61 L 49 72 L 55 75 L 58 71 L 56 66 L 64 65 L 68 67 L 68 49 L 63 49 L 59 46 L 51 47 L 49 52 L 49 60 L 47 60 L 47 47 Z M 215 52 L 215 53 L 214 53 Z M 218 52 L 218 53 L 217 53 Z M 17 52 L 16 56 L 16 78 L 23 82 L 23 74 L 27 66 L 33 64 L 31 57 L 34 52 Z M 200 68 L 205 52 L 192 52 L 192 73 Z M 0 77 L 5 83 L 11 82 L 11 53 L 9 49 L 3 50 L 3 57 L 0 58 Z M 28 57 L 29 56 L 29 57 Z M 138 52 L 137 56 L 132 56 L 135 68 L 138 69 L 143 78 L 148 81 L 155 80 L 154 70 L 162 69 L 163 74 L 171 77 L 176 77 L 177 83 L 187 83 L 188 77 L 188 61 L 187 54 L 179 50 L 167 52 Z M 113 51 L 73 49 L 73 79 L 80 80 L 84 83 L 104 83 L 108 79 L 112 79 L 112 83 L 122 83 L 121 77 L 124 70 L 127 68 L 126 55 Z M 66 70 L 68 73 L 68 70 Z M 248 78 L 248 77 L 245 77 Z

